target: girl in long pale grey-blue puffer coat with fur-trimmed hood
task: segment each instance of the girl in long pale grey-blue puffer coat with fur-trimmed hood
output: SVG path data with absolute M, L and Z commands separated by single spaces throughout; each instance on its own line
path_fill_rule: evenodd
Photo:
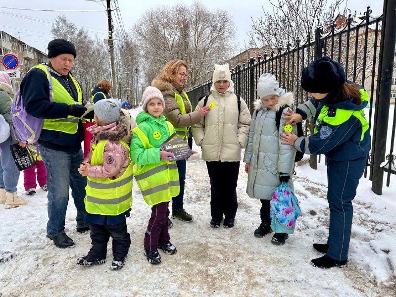
M 264 73 L 257 83 L 257 95 L 260 99 L 254 102 L 255 110 L 250 124 L 249 138 L 245 150 L 244 162 L 247 177 L 246 193 L 251 198 L 260 199 L 261 224 L 254 231 L 255 237 L 263 237 L 271 232 L 270 200 L 276 189 L 284 181 L 293 189 L 293 168 L 296 149 L 282 145 L 280 135 L 284 131 L 287 119 L 283 114 L 289 112 L 294 99 L 293 93 L 286 93 L 279 88 L 274 75 Z M 276 125 L 276 113 L 283 109 L 279 123 Z M 293 131 L 297 134 L 296 126 Z M 288 238 L 286 233 L 275 233 L 271 242 L 283 245 Z

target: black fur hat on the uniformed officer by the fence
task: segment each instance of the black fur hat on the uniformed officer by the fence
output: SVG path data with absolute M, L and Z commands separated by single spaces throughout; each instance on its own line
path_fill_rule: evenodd
M 302 69 L 301 88 L 309 93 L 331 93 L 345 82 L 344 67 L 330 57 L 314 60 Z

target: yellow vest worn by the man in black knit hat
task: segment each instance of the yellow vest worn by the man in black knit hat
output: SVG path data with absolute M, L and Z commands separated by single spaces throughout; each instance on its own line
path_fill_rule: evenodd
M 39 68 L 43 70 L 47 74 L 47 78 L 49 80 L 49 70 L 44 65 L 36 65 L 33 68 Z M 80 85 L 75 81 L 73 76 L 69 73 L 69 76 L 76 87 L 78 103 L 82 102 L 82 92 Z M 57 103 L 66 103 L 68 105 L 76 104 L 76 101 L 71 97 L 71 95 L 66 91 L 66 89 L 61 85 L 61 83 L 52 77 L 52 99 Z M 54 130 L 60 131 L 64 133 L 74 134 L 78 129 L 79 119 L 75 118 L 71 115 L 68 115 L 67 118 L 64 119 L 44 119 L 43 129 L 45 130 Z

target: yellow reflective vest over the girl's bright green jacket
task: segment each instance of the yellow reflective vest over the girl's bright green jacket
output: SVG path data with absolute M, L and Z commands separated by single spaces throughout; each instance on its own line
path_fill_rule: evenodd
M 173 126 L 168 121 L 166 121 L 166 124 L 169 134 L 171 134 Z M 136 133 L 145 149 L 153 148 L 148 142 L 147 136 L 139 127 L 136 127 L 133 133 Z M 172 197 L 179 195 L 179 171 L 175 161 L 161 160 L 155 164 L 135 164 L 133 174 L 148 205 L 170 201 Z

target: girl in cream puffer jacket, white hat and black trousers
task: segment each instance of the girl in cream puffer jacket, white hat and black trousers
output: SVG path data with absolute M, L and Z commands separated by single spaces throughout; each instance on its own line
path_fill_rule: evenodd
M 210 178 L 210 226 L 234 227 L 237 213 L 237 180 L 242 148 L 247 145 L 251 116 L 244 101 L 234 94 L 228 63 L 215 65 L 211 95 L 199 101 L 196 110 L 212 110 L 192 128 L 197 146 L 202 147 Z M 240 105 L 240 106 L 238 106 Z

